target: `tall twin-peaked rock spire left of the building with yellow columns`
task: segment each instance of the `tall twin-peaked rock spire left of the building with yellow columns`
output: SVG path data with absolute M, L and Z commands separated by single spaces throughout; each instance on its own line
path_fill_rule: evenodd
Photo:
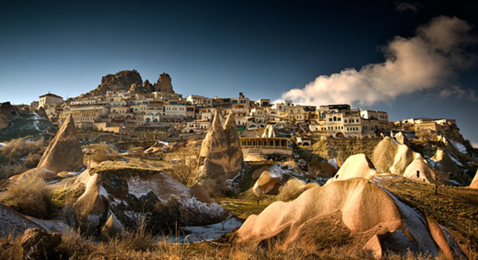
M 225 194 L 227 180 L 239 173 L 244 161 L 234 114 L 229 114 L 224 126 L 221 121 L 216 112 L 199 154 L 199 183 L 209 195 Z

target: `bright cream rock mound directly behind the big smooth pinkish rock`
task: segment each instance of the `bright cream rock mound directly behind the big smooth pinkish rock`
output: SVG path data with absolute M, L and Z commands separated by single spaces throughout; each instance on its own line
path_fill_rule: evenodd
M 349 156 L 335 176 L 327 181 L 327 184 L 336 180 L 347 180 L 356 177 L 371 179 L 377 175 L 379 173 L 375 171 L 375 166 L 373 166 L 369 158 L 365 154 L 359 153 Z

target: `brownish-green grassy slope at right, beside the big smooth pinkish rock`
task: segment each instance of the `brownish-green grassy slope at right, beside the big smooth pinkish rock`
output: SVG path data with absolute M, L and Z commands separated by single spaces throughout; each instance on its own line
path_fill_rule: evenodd
M 412 182 L 404 178 L 382 178 L 380 185 L 409 206 L 433 218 L 454 233 L 467 249 L 478 248 L 478 190 Z

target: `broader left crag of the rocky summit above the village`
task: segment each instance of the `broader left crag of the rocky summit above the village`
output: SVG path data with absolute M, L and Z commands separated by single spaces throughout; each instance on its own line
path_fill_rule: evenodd
M 132 84 L 142 86 L 143 80 L 136 70 L 122 70 L 115 75 L 108 74 L 101 78 L 101 84 L 88 94 L 91 96 L 104 95 L 108 90 L 129 90 Z

